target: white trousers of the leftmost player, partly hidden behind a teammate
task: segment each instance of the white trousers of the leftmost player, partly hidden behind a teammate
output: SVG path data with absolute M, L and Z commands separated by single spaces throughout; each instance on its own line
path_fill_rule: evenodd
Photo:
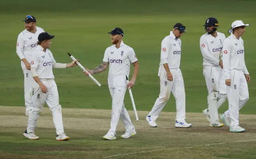
M 26 69 L 23 61 L 21 61 L 21 68 L 24 74 L 24 99 L 27 111 L 33 108 L 32 87 L 36 84 L 36 81 L 33 79 L 31 71 Z

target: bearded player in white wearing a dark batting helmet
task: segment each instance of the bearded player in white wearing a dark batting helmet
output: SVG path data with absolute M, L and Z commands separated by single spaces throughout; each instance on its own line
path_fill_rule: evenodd
M 226 39 L 224 33 L 217 31 L 219 27 L 216 18 L 207 18 L 205 24 L 206 33 L 200 38 L 200 49 L 203 55 L 203 74 L 208 89 L 208 109 L 203 114 L 210 122 L 210 127 L 222 127 L 219 122 L 218 108 L 226 101 L 226 85 L 222 75 L 221 52 L 223 41 Z

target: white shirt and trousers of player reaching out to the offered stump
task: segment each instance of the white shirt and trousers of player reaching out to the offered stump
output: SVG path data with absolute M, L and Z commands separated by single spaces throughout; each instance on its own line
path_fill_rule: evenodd
M 28 133 L 34 132 L 36 121 L 44 108 L 45 102 L 52 112 L 53 123 L 56 128 L 57 135 L 64 133 L 62 108 L 59 104 L 58 89 L 52 72 L 52 65 L 55 63 L 56 61 L 52 52 L 49 49 L 46 49 L 46 52 L 44 52 L 43 48 L 38 45 L 31 57 L 31 67 L 36 68 L 36 73 L 42 83 L 47 87 L 48 92 L 44 94 L 37 83 L 33 86 L 32 98 L 34 107 L 33 112 L 28 118 Z

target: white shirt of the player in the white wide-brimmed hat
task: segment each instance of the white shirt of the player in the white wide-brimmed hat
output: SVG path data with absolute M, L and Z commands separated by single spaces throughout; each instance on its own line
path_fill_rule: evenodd
M 242 70 L 249 74 L 244 61 L 244 41 L 231 34 L 223 43 L 223 69 L 225 79 L 230 79 L 230 70 Z

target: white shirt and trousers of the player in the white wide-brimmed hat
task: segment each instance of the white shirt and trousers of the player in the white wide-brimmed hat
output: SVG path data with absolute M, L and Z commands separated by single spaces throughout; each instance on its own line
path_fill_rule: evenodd
M 248 85 L 245 74 L 249 74 L 244 61 L 244 41 L 231 34 L 223 43 L 223 69 L 225 79 L 231 79 L 227 86 L 228 111 L 225 115 L 230 118 L 230 126 L 239 124 L 239 110 L 249 99 Z

